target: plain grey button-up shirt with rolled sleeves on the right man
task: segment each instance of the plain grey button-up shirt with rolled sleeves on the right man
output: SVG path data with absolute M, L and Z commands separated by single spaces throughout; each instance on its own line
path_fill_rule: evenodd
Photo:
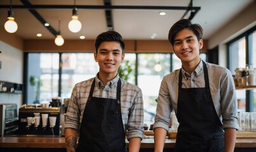
M 223 128 L 239 129 L 238 126 L 238 100 L 231 72 L 222 66 L 206 63 L 208 69 L 209 85 L 213 105 Z M 183 68 L 163 77 L 159 89 L 158 105 L 154 129 L 161 127 L 169 132 L 170 115 L 174 109 L 177 111 L 179 92 L 179 72 L 182 70 L 182 88 L 205 87 L 203 62 L 200 61 L 194 72 L 190 75 Z M 189 101 L 187 101 L 189 102 Z

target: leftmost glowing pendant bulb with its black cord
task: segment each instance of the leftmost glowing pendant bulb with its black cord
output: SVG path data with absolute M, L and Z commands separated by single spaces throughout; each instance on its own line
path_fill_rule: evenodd
M 13 11 L 11 10 L 11 5 L 10 5 L 10 10 L 8 11 L 8 21 L 6 21 L 4 23 L 4 29 L 9 33 L 14 33 L 18 30 L 18 25 L 14 21 L 14 16 L 13 16 Z

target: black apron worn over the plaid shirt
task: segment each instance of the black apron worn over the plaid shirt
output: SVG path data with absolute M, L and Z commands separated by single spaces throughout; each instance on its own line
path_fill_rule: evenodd
M 121 116 L 121 79 L 118 80 L 116 99 L 93 96 L 95 80 L 91 85 L 79 130 L 79 152 L 124 152 L 125 130 Z

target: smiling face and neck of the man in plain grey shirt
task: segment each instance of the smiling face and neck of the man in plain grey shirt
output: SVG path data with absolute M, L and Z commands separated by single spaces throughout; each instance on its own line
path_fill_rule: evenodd
M 178 58 L 184 65 L 198 65 L 200 61 L 199 49 L 203 47 L 203 40 L 198 41 L 196 35 L 189 30 L 184 28 L 175 35 L 173 42 L 173 49 Z

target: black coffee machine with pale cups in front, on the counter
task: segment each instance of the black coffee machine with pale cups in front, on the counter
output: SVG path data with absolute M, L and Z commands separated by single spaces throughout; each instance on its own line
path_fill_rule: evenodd
M 20 108 L 18 134 L 60 136 L 60 107 Z

